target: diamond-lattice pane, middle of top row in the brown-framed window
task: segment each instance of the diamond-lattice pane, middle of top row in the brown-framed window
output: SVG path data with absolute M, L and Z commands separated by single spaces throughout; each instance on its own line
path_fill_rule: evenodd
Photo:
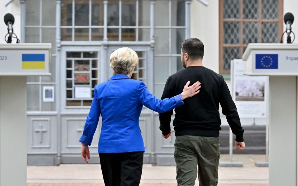
M 243 1 L 243 19 L 259 19 L 259 0 Z

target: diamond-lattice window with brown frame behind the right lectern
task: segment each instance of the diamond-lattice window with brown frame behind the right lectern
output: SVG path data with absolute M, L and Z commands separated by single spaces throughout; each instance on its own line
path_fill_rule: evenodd
M 222 0 L 220 2 L 220 73 L 242 58 L 249 43 L 278 43 L 283 31 L 283 0 Z

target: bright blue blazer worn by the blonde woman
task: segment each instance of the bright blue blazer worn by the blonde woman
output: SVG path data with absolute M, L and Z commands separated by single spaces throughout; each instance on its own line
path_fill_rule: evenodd
M 103 118 L 98 142 L 100 153 L 144 151 L 139 128 L 143 105 L 162 113 L 180 107 L 181 94 L 160 100 L 150 94 L 142 81 L 117 74 L 94 87 L 94 99 L 87 116 L 80 142 L 91 145 L 99 116 Z

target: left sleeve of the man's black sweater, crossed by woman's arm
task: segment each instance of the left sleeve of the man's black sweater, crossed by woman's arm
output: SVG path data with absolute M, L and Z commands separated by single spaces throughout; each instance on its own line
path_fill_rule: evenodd
M 162 100 L 170 98 L 174 93 L 174 86 L 171 76 L 167 79 L 166 84 L 164 85 L 164 92 L 162 93 Z M 171 131 L 171 118 L 173 115 L 173 110 L 169 110 L 164 113 L 159 114 L 159 129 L 162 131 L 162 135 L 167 135 Z

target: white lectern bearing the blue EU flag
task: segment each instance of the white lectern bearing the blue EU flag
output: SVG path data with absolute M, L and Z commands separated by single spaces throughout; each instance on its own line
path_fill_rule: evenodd
M 298 44 L 249 44 L 243 61 L 269 76 L 269 185 L 298 186 Z

